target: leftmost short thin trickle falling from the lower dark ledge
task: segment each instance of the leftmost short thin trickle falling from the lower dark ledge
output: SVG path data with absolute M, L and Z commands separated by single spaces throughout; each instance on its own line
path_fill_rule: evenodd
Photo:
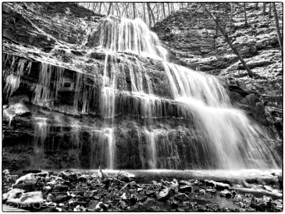
M 44 158 L 45 141 L 48 137 L 48 118 L 33 118 L 34 125 L 34 138 L 33 138 L 33 152 L 34 163 L 38 168 L 41 167 L 41 161 Z M 39 165 L 38 165 L 39 164 Z

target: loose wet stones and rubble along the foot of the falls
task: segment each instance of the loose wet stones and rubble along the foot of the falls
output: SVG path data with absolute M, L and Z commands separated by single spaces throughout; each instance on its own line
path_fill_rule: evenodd
M 4 172 L 2 202 L 7 210 L 30 211 L 282 211 L 281 196 L 257 196 L 206 185 L 206 180 L 160 180 L 152 183 L 123 181 L 118 172 L 108 175 L 102 170 L 92 175 L 66 170 L 52 173 L 29 173 L 16 181 L 9 170 Z M 64 178 L 63 178 L 64 177 Z M 34 179 L 36 178 L 36 180 Z M 86 178 L 83 179 L 82 178 Z M 7 181 L 12 185 L 9 185 Z M 14 188 L 16 184 L 34 180 L 33 188 Z M 214 180 L 212 180 L 214 182 Z M 180 192 L 181 185 L 190 184 L 192 192 Z M 222 185 L 219 182 L 219 185 Z M 225 186 L 227 184 L 224 183 Z M 216 185 L 217 186 L 217 185 Z M 9 189 L 8 189 L 9 188 Z M 202 191 L 204 190 L 204 191 Z M 210 191 L 209 191 L 210 190 Z

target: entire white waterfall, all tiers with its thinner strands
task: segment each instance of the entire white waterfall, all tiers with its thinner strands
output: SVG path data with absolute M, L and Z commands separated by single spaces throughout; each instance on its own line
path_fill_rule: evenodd
M 124 114 L 140 121 L 139 126 L 133 127 L 138 136 L 141 168 L 278 167 L 278 160 L 274 160 L 272 151 L 266 146 L 268 137 L 264 131 L 242 111 L 232 108 L 219 80 L 168 62 L 167 51 L 143 21 L 108 16 L 100 21 L 98 29 L 100 38 L 95 49 L 96 53 L 101 51 L 105 55 L 103 70 L 96 65 L 100 75 L 95 71 L 75 73 L 71 105 L 74 111 L 83 115 L 90 113 L 91 108 L 96 109 L 95 114 L 103 121 L 88 126 L 78 121 L 70 124 L 71 148 L 81 151 L 76 152 L 78 162 L 82 156 L 88 156 L 90 168 L 99 165 L 117 168 L 116 117 Z M 92 58 L 93 51 L 94 47 L 85 57 Z M 127 54 L 129 57 L 125 56 Z M 150 73 L 133 55 L 160 61 L 172 100 L 154 93 Z M 52 106 L 58 98 L 59 88 L 64 85 L 64 73 L 63 68 L 41 63 L 38 84 L 31 86 L 35 91 L 33 103 Z M 100 83 L 96 85 L 98 79 Z M 12 88 L 18 87 L 17 81 L 10 82 Z M 175 129 L 157 122 L 160 119 L 167 121 L 167 117 L 177 121 L 185 119 L 189 124 L 179 124 Z M 46 121 L 36 124 L 35 142 L 42 145 L 47 134 Z M 88 153 L 83 153 L 84 143 L 89 145 Z M 182 163 L 185 160 L 187 164 Z

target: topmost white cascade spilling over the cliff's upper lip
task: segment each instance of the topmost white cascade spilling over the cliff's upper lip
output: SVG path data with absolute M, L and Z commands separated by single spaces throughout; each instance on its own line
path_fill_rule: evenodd
M 151 58 L 166 58 L 167 51 L 157 35 L 141 19 L 108 16 L 100 23 L 100 46 L 114 52 L 128 52 Z

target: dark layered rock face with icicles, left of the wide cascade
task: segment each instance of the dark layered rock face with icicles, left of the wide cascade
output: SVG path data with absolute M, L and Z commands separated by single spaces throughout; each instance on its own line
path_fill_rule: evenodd
M 151 168 L 147 148 L 158 136 L 157 143 L 164 146 L 156 151 L 161 157 L 157 167 L 195 164 L 188 160 L 191 157 L 186 156 L 183 141 L 195 143 L 199 136 L 185 131 L 189 119 L 181 118 L 180 107 L 171 99 L 160 61 L 128 53 L 106 56 L 90 49 L 98 43 L 96 31 L 102 16 L 75 4 L 4 4 L 3 12 L 4 168 L 110 168 L 110 161 L 118 163 L 111 168 Z M 103 73 L 114 66 L 121 75 L 117 106 L 100 106 L 104 103 L 97 100 L 105 81 Z M 133 73 L 140 78 L 134 79 Z M 158 98 L 131 96 L 138 82 L 142 91 L 151 87 Z M 19 110 L 19 103 L 25 103 L 22 106 L 28 113 Z M 115 128 L 102 128 L 110 122 L 112 108 L 117 115 L 112 121 Z M 157 136 L 147 131 L 146 115 L 153 128 L 163 123 L 166 130 Z M 110 156 L 113 136 L 116 150 Z M 168 138 L 177 138 L 175 150 Z

